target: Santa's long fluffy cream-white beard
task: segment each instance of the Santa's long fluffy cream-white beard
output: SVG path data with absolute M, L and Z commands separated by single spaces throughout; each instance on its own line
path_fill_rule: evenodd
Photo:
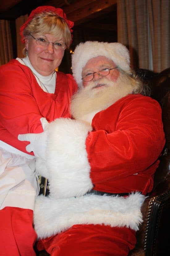
M 98 84 L 104 84 L 96 87 Z M 72 97 L 70 111 L 75 119 L 81 119 L 89 113 L 96 113 L 108 108 L 114 102 L 133 92 L 129 79 L 119 76 L 116 82 L 103 77 L 97 81 L 91 81 L 85 88 Z

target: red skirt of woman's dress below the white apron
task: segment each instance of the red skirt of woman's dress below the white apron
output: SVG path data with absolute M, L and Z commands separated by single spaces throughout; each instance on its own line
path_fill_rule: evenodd
M 36 256 L 37 235 L 32 227 L 33 211 L 17 207 L 0 210 L 1 256 Z

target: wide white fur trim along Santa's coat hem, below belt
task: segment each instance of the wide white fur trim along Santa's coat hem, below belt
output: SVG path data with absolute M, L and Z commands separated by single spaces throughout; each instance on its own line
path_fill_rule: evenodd
M 84 195 L 67 199 L 38 196 L 34 226 L 38 238 L 67 230 L 74 224 L 105 224 L 130 227 L 137 231 L 142 222 L 141 205 L 145 196 L 135 193 L 127 197 Z

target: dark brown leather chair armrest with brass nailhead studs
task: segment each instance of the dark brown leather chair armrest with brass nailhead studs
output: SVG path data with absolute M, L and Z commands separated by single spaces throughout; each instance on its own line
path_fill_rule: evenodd
M 170 255 L 170 174 L 156 186 L 142 205 L 143 223 L 131 256 Z

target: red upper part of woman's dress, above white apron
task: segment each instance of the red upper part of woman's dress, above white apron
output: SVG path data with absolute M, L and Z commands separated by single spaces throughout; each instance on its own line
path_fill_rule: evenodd
M 0 78 L 0 140 L 29 154 L 29 142 L 19 141 L 18 134 L 42 132 L 41 117 L 49 122 L 70 117 L 70 97 L 77 85 L 72 75 L 57 72 L 55 93 L 44 92 L 31 70 L 17 60 L 0 67 Z

